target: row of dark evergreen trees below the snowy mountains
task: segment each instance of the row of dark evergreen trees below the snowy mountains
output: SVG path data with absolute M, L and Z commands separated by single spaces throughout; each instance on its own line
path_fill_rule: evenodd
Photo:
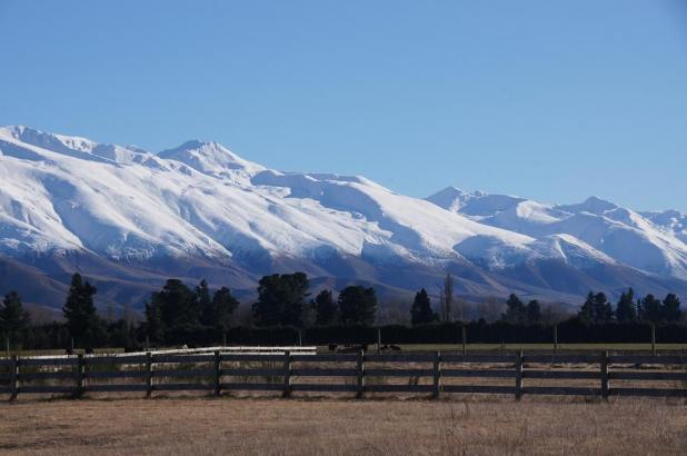
M 377 316 L 377 295 L 374 288 L 352 285 L 339 290 L 323 289 L 315 297 L 309 294 L 310 282 L 303 272 L 273 274 L 262 277 L 252 304 L 251 326 L 256 328 L 369 328 Z M 412 327 L 437 326 L 452 321 L 452 278 L 444 280 L 439 303 L 432 306 L 425 288 L 409 305 Z M 179 279 L 169 279 L 152 293 L 145 305 L 145 319 L 102 318 L 94 306 L 97 288 L 81 275 L 74 274 L 62 315 L 64 323 L 33 325 L 23 308 L 20 296 L 9 293 L 0 307 L 0 334 L 14 345 L 63 347 L 119 346 L 140 347 L 143 341 L 155 345 L 183 344 L 211 335 L 226 335 L 232 327 L 239 300 L 231 290 L 221 287 L 215 291 L 206 280 L 189 287 Z M 522 301 L 511 294 L 505 301 L 500 321 L 508 327 L 530 327 L 542 321 L 541 305 L 532 299 Z M 654 295 L 636 297 L 630 288 L 620 295 L 614 306 L 604 293 L 589 291 L 578 314 L 569 318 L 570 325 L 605 325 L 669 323 L 683 320 L 680 300 L 668 294 L 663 300 Z M 577 323 L 576 323 L 577 321 Z M 480 327 L 486 321 L 479 321 Z M 498 329 L 504 331 L 507 326 Z M 639 326 L 638 326 L 639 327 Z M 509 329 L 510 330 L 510 329 Z M 206 335 L 206 336 L 199 336 Z M 319 337 L 319 336 L 318 336 Z M 596 336 L 595 336 L 596 337 Z M 207 337 L 206 337 L 207 338 Z

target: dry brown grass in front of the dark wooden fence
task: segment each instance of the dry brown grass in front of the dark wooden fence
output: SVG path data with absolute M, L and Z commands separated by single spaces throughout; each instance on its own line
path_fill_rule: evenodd
M 687 406 L 541 398 L 0 404 L 3 454 L 678 455 Z

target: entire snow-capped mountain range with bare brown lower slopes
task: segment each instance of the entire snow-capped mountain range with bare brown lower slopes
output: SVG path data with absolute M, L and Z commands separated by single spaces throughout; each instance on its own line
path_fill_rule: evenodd
M 0 291 L 50 305 L 74 270 L 120 304 L 170 276 L 250 290 L 293 270 L 389 295 L 438 287 L 446 271 L 471 297 L 687 289 L 684 215 L 600 200 L 452 188 L 424 200 L 359 176 L 268 169 L 217 142 L 152 153 L 27 127 L 0 128 Z

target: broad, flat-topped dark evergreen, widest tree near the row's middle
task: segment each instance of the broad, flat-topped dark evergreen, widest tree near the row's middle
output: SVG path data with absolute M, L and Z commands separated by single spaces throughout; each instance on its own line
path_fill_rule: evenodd
M 258 301 L 252 306 L 256 324 L 301 327 L 308 287 L 308 276 L 303 272 L 262 277 L 258 282 Z

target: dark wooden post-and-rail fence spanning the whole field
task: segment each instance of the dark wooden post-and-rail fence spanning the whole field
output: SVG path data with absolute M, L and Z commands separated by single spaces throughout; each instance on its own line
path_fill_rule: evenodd
M 406 384 L 377 381 L 404 377 L 411 380 Z M 330 380 L 316 381 L 322 378 Z M 331 379 L 336 381 L 329 383 Z M 469 384 L 451 384 L 451 379 L 464 383 L 467 379 Z M 506 385 L 489 385 L 489 380 Z M 541 385 L 547 380 L 577 384 L 585 380 L 591 385 Z M 616 380 L 623 380 L 624 385 L 614 385 Z M 626 385 L 633 381 L 661 381 L 664 387 Z M 512 395 L 516 399 L 524 395 L 687 397 L 687 356 L 529 355 L 521 351 L 511 355 L 439 351 L 245 355 L 217 350 L 195 355 L 147 353 L 0 359 L 0 394 L 11 399 L 20 394 L 80 397 L 86 393 L 140 391 L 150 397 L 155 391 L 191 390 L 215 396 L 222 391 L 277 391 L 283 397 L 296 391 L 336 391 L 355 394 L 358 398 L 366 393 L 425 394 L 434 398 L 445 394 L 499 394 Z

